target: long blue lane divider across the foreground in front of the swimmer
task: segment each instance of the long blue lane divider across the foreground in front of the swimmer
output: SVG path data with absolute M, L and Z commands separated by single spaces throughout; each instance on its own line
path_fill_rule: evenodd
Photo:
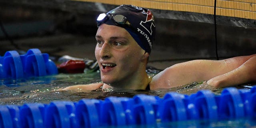
M 139 94 L 78 102 L 53 101 L 0 106 L 1 128 L 94 128 L 155 125 L 184 120 L 256 119 L 256 86 L 225 88 L 221 95 L 200 90 L 190 96 L 169 92 L 164 98 Z M 196 124 L 197 125 L 197 124 Z

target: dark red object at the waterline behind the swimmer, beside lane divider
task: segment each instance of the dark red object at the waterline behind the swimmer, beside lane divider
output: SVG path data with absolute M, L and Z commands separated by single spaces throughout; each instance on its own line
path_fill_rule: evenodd
M 68 60 L 57 65 L 60 73 L 83 73 L 86 64 L 82 60 Z

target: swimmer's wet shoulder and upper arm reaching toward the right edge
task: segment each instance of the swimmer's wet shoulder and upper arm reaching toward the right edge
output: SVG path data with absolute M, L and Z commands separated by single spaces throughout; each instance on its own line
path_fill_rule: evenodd
M 251 56 L 238 56 L 238 57 L 229 58 L 226 60 L 218 60 L 218 61 L 217 60 L 192 60 L 184 63 L 175 64 L 169 68 L 166 68 L 164 71 L 154 76 L 150 83 L 150 89 L 154 90 L 157 88 L 172 88 L 172 87 L 181 86 L 184 84 L 190 84 L 192 82 L 207 81 L 237 69 L 238 67 L 245 64 L 245 62 L 250 58 L 252 58 L 253 56 L 256 56 L 256 55 L 254 54 Z M 255 65 L 255 62 L 251 62 L 251 63 Z M 245 67 L 245 68 L 241 68 L 241 70 L 248 72 L 248 70 L 250 69 L 248 67 Z M 237 72 L 233 72 L 233 73 L 234 75 L 237 74 Z M 224 80 L 225 79 L 226 78 L 224 78 Z M 228 81 L 230 80 L 232 79 L 229 79 Z M 219 83 L 208 82 L 208 84 L 214 87 L 223 87 L 223 86 L 220 86 Z M 231 85 L 225 84 L 224 86 L 231 86 Z

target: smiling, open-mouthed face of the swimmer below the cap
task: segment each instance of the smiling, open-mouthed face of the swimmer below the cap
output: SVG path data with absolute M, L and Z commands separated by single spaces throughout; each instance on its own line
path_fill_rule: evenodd
M 145 62 L 145 51 L 124 28 L 102 24 L 96 33 L 96 41 L 95 57 L 102 82 L 123 83 L 142 72 L 139 69 Z

